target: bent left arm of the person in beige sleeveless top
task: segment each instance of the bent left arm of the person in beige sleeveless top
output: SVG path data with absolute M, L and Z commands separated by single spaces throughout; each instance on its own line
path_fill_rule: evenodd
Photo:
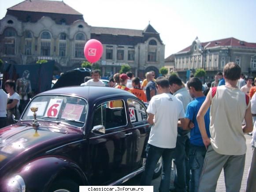
M 210 106 L 211 106 L 211 91 L 208 92 L 208 95 L 206 96 L 206 99 L 204 100 L 204 103 L 200 107 L 197 114 L 197 123 L 199 126 L 201 136 L 203 138 L 205 148 L 207 148 L 208 145 L 211 143 L 211 140 L 206 133 L 205 124 L 204 124 L 204 115 L 206 114 Z

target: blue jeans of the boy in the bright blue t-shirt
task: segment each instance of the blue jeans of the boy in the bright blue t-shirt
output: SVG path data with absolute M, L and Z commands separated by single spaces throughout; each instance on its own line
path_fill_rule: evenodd
M 199 179 L 204 165 L 204 157 L 206 154 L 204 146 L 190 144 L 189 146 L 189 166 L 191 170 L 189 192 L 197 192 Z

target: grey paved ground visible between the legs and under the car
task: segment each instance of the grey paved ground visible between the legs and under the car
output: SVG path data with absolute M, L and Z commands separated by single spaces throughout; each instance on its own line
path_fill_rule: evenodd
M 247 152 L 246 152 L 246 157 L 245 157 L 245 170 L 244 170 L 244 175 L 243 175 L 240 192 L 245 192 L 247 174 L 248 174 L 248 170 L 249 170 L 249 167 L 250 167 L 251 161 L 252 161 L 252 148 L 250 145 L 252 137 L 249 135 L 245 135 L 245 138 L 246 138 L 246 144 L 247 144 Z M 125 182 L 122 185 L 140 185 L 140 179 L 141 179 L 141 175 L 138 175 L 138 176 L 134 177 L 133 179 L 131 179 L 130 181 Z M 158 188 L 160 185 L 160 177 L 152 180 L 152 185 L 154 186 L 154 192 L 158 192 Z M 223 171 L 221 172 L 221 174 L 219 176 L 216 192 L 226 192 Z

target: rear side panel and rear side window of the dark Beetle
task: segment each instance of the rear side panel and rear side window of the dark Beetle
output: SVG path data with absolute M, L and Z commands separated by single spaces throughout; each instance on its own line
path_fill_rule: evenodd
M 129 120 L 132 127 L 132 170 L 142 166 L 145 158 L 145 148 L 150 133 L 150 125 L 147 122 L 148 114 L 145 105 L 136 99 L 128 99 Z

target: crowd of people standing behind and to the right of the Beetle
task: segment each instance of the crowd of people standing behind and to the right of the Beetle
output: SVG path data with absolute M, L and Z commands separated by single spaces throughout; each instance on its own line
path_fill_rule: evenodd
M 226 64 L 223 73 L 215 75 L 215 81 L 206 89 L 193 76 L 186 85 L 175 74 L 155 79 L 150 71 L 145 77 L 140 84 L 131 72 L 117 73 L 108 84 L 149 102 L 148 123 L 152 129 L 141 185 L 151 185 L 155 166 L 162 157 L 160 192 L 169 191 L 172 159 L 177 174 L 171 191 L 215 192 L 223 169 L 226 192 L 239 192 L 245 166 L 244 133 L 252 132 L 252 116 L 256 116 L 256 79 L 245 78 L 240 66 L 232 62 Z M 89 81 L 100 81 L 99 71 L 93 71 L 92 78 Z M 255 147 L 256 130 L 246 192 L 256 189 Z

